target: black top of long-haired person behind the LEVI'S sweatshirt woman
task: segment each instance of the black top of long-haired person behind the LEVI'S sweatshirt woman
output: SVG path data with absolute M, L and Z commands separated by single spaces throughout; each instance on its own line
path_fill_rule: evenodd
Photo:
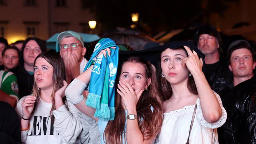
M 17 68 L 14 68 L 10 71 L 13 72 L 18 79 L 20 98 L 30 95 L 32 93 L 32 88 L 34 85 L 34 75 L 30 75 L 25 70 L 24 66 L 18 66 Z

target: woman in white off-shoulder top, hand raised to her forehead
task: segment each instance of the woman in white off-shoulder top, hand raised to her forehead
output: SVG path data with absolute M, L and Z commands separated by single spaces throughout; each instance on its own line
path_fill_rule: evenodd
M 226 122 L 226 110 L 202 72 L 203 61 L 194 51 L 194 45 L 178 43 L 174 44 L 176 47 L 170 44 L 170 48 L 162 48 L 160 55 L 158 80 L 164 120 L 156 143 L 185 144 L 197 105 L 189 143 L 218 144 L 216 128 Z

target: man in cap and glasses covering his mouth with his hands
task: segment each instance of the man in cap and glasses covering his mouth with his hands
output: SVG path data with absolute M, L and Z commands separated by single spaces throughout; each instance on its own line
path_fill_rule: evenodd
M 57 41 L 60 45 L 60 56 L 65 64 L 66 78 L 69 84 L 84 71 L 88 62 L 84 58 L 86 47 L 82 36 L 71 30 L 61 32 L 57 37 Z M 86 91 L 83 94 L 86 96 Z M 79 136 L 80 142 L 82 144 L 99 144 L 100 132 L 97 122 L 82 114 L 81 123 L 83 130 Z

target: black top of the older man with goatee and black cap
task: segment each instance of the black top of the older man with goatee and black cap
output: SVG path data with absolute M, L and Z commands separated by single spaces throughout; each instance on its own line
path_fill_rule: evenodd
M 214 68 L 210 69 L 213 65 Z M 205 64 L 204 70 L 206 79 L 215 92 L 219 93 L 232 84 L 233 75 L 228 68 L 226 58 L 220 58 L 216 64 Z

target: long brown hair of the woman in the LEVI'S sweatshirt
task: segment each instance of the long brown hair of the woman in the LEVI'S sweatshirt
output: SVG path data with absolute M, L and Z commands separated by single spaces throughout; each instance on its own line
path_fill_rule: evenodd
M 52 111 L 55 110 L 55 99 L 54 99 L 55 92 L 63 86 L 63 80 L 66 80 L 65 65 L 60 55 L 56 54 L 55 52 L 44 52 L 39 54 L 34 61 L 34 66 L 38 58 L 44 58 L 44 60 L 46 60 L 50 65 L 53 66 L 53 75 L 52 75 L 53 90 L 51 94 L 52 108 L 50 111 L 50 114 L 51 114 Z M 34 112 L 37 104 L 40 102 L 40 97 L 39 97 L 40 88 L 37 87 L 35 80 L 34 80 L 34 86 L 32 89 L 32 94 L 33 96 L 36 96 L 36 102 L 33 108 L 33 112 Z M 66 97 L 64 97 L 63 102 L 65 98 Z M 54 116 L 52 116 L 51 122 L 54 122 Z

